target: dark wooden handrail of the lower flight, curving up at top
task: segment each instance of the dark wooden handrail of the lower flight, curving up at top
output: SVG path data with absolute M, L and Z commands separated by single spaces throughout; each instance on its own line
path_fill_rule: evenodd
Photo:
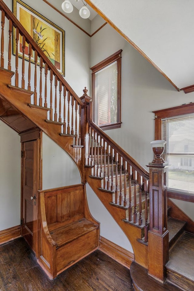
M 146 171 L 137 161 L 135 161 L 127 152 L 125 152 L 122 147 L 115 143 L 112 138 L 110 138 L 100 127 L 98 127 L 94 121 L 92 120 L 92 102 L 89 102 L 87 106 L 87 119 L 89 126 L 99 134 L 103 140 L 105 140 L 115 151 L 122 156 L 126 162 L 132 165 L 132 167 L 142 175 L 142 177 L 146 180 L 149 180 L 149 172 Z

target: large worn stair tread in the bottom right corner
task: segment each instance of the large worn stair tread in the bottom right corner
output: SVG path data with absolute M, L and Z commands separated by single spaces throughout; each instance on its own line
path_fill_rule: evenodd
M 170 273 L 176 277 L 176 282 L 181 280 L 180 286 L 184 283 L 184 278 L 186 279 L 187 288 L 188 284 L 194 284 L 194 235 L 191 233 L 184 232 L 184 234 L 178 239 L 176 244 L 173 246 L 169 252 L 169 262 L 166 264 L 167 268 L 167 278 L 171 279 Z M 177 274 L 177 276 L 176 276 Z M 181 275 L 181 276 L 180 276 Z M 182 278 L 181 278 L 182 277 Z M 172 280 L 171 280 L 172 281 Z M 177 284 L 176 283 L 176 284 Z

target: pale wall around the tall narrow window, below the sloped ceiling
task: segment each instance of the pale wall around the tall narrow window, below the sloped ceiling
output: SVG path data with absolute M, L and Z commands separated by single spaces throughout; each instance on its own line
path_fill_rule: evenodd
M 102 45 L 103 44 L 103 45 Z M 108 24 L 91 39 L 91 67 L 122 49 L 120 129 L 107 130 L 142 167 L 152 161 L 153 110 L 194 101 L 194 93 L 175 88 Z

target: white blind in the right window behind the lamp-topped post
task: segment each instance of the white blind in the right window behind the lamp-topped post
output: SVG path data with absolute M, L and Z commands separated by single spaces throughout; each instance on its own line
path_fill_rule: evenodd
M 162 120 L 168 190 L 194 195 L 194 115 Z

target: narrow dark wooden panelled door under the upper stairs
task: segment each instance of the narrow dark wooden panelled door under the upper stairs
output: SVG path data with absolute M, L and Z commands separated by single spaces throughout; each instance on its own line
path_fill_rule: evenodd
M 39 140 L 22 143 L 22 236 L 37 255 L 39 189 Z

